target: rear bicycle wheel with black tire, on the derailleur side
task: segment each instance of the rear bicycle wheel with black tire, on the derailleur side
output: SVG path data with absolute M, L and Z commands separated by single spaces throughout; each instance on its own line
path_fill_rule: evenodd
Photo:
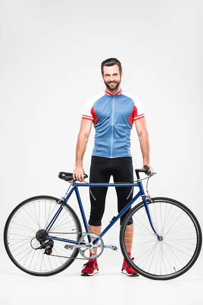
M 29 198 L 11 212 L 6 222 L 4 229 L 6 251 L 12 262 L 30 275 L 55 275 L 69 267 L 78 255 L 78 249 L 65 250 L 65 242 L 58 240 L 54 240 L 51 255 L 45 254 L 45 249 L 35 250 L 41 246 L 36 233 L 46 229 L 60 206 L 58 200 L 51 196 Z M 81 224 L 75 211 L 65 203 L 49 234 L 78 241 L 81 231 Z M 52 234 L 52 232 L 58 233 Z M 60 234 L 63 232 L 66 234 Z

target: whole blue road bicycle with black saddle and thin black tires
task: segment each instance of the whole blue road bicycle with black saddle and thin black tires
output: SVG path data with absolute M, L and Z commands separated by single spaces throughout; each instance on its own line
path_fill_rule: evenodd
M 140 172 L 151 173 L 149 167 L 144 166 L 144 169 L 136 169 L 137 181 L 102 184 L 77 182 L 72 173 L 60 172 L 59 178 L 71 183 L 61 199 L 32 197 L 11 212 L 5 225 L 4 243 L 12 262 L 30 275 L 51 276 L 69 267 L 79 253 L 80 259 L 93 259 L 99 257 L 105 248 L 116 251 L 117 247 L 105 245 L 102 237 L 133 202 L 142 197 L 142 201 L 129 210 L 121 226 L 120 247 L 124 258 L 140 275 L 152 280 L 170 280 L 183 275 L 195 263 L 201 250 L 199 223 L 181 202 L 164 197 L 151 198 L 148 190 L 146 196 Z M 149 181 L 154 174 L 144 179 Z M 78 190 L 79 187 L 94 186 L 139 187 L 137 195 L 112 218 L 100 235 L 88 230 Z M 76 212 L 67 204 L 74 191 L 85 232 L 82 232 Z M 129 224 L 133 224 L 133 231 L 128 231 Z M 126 236 L 129 234 L 132 234 L 133 261 L 126 249 L 129 239 Z M 97 248 L 96 254 L 94 248 Z

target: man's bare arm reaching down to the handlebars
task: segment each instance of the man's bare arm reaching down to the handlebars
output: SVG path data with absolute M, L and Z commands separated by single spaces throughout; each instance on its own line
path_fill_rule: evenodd
M 148 165 L 152 169 L 152 167 L 150 166 L 150 144 L 146 120 L 143 117 L 135 120 L 134 124 L 136 125 L 136 130 L 140 141 L 140 147 L 142 150 L 143 166 Z

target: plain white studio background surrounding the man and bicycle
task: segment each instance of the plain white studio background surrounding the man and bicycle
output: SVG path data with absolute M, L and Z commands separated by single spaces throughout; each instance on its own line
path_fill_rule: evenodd
M 202 226 L 202 1 L 0 3 L 2 237 L 18 203 L 36 195 L 64 195 L 69 184 L 57 175 L 74 170 L 83 105 L 105 90 L 100 64 L 109 57 L 122 64 L 121 87 L 144 106 L 151 166 L 157 171 L 149 184 L 151 195 L 183 202 Z M 87 174 L 93 141 L 92 127 L 83 164 Z M 134 126 L 131 153 L 134 168 L 142 167 Z M 88 218 L 88 188 L 80 190 Z M 78 211 L 75 197 L 71 205 Z M 116 192 L 110 188 L 104 226 L 116 213 Z M 118 224 L 104 240 L 119 247 Z M 184 276 L 157 282 L 121 275 L 120 250 L 105 250 L 100 273 L 90 279 L 80 276 L 81 261 L 55 277 L 31 277 L 7 257 L 3 238 L 0 250 L 2 304 L 41 304 L 47 300 L 40 290 L 44 285 L 51 291 L 50 304 L 75 299 L 70 295 L 74 291 L 82 292 L 80 301 L 88 296 L 85 302 L 104 302 L 108 293 L 109 300 L 119 303 L 189 304 L 191 297 L 195 305 L 203 301 L 201 254 Z

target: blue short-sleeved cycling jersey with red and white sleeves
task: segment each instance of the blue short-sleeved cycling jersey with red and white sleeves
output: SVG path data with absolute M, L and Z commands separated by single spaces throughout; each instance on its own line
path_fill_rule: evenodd
M 112 95 L 105 90 L 87 100 L 83 116 L 93 121 L 95 128 L 92 156 L 131 157 L 130 132 L 133 121 L 143 118 L 141 101 L 122 90 Z

